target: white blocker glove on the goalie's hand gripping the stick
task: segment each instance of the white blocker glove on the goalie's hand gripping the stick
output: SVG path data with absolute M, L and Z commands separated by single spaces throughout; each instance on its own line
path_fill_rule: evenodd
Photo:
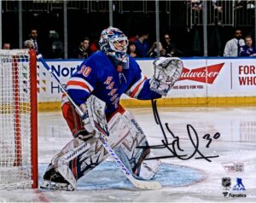
M 105 115 L 106 103 L 96 96 L 90 96 L 80 109 L 84 113 L 82 117 L 84 129 L 88 132 L 95 132 L 96 138 L 101 134 L 108 136 L 108 123 Z

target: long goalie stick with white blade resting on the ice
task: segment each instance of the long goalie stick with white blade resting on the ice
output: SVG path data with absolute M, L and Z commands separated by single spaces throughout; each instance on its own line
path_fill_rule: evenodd
M 48 70 L 48 72 L 51 74 L 51 76 L 53 76 L 55 78 L 55 80 L 57 81 L 58 84 L 60 84 L 61 86 L 61 90 L 63 90 L 63 92 L 67 95 L 69 101 L 73 104 L 73 106 L 76 108 L 76 110 L 78 111 L 79 115 L 81 116 L 82 119 L 85 119 L 88 117 L 87 114 L 84 114 L 83 111 L 76 105 L 75 102 L 73 102 L 73 99 L 71 98 L 71 96 L 69 96 L 67 94 L 67 90 L 62 86 L 61 81 L 59 80 L 59 78 L 57 78 L 57 76 L 55 75 L 55 73 L 53 73 L 53 71 L 50 69 L 50 67 L 48 66 L 48 64 L 46 63 L 46 61 L 44 61 L 44 58 L 41 54 L 37 55 L 38 61 L 41 61 L 42 64 L 44 65 L 44 67 Z M 125 167 L 125 165 L 123 164 L 123 162 L 119 159 L 119 157 L 115 154 L 115 152 L 113 151 L 113 149 L 110 147 L 110 145 L 108 144 L 107 140 L 103 137 L 103 136 L 108 136 L 108 128 L 104 128 L 104 126 L 102 127 L 101 125 L 99 125 L 98 123 L 96 123 L 96 120 L 94 120 L 95 125 L 96 125 L 96 131 L 97 133 L 100 133 L 99 136 L 99 140 L 102 142 L 103 147 L 108 151 L 108 154 L 110 154 L 112 156 L 112 158 L 114 159 L 114 161 L 116 162 L 116 164 L 118 165 L 119 169 L 121 169 L 121 171 L 123 171 L 123 173 L 125 174 L 125 177 L 127 177 L 127 179 L 136 187 L 136 188 L 143 188 L 143 189 L 160 189 L 162 188 L 161 184 L 157 181 L 150 181 L 150 180 L 141 180 L 141 179 L 137 179 L 135 178 L 131 172 Z M 103 135 L 103 136 L 102 136 Z

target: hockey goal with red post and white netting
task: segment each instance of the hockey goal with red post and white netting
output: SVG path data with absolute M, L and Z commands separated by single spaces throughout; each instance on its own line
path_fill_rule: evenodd
M 0 189 L 38 188 L 37 59 L 0 49 Z

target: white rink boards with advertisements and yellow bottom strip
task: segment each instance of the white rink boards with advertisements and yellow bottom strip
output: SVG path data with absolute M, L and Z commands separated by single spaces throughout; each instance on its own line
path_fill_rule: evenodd
M 159 100 L 164 107 L 231 106 L 256 104 L 255 58 L 183 58 L 183 73 L 169 94 Z M 152 59 L 137 60 L 143 74 L 154 73 Z M 65 85 L 81 64 L 81 60 L 48 61 L 52 71 Z M 104 68 L 104 67 L 102 67 Z M 61 107 L 61 88 L 38 62 L 38 108 L 56 110 Z M 149 101 L 122 96 L 125 107 L 148 107 Z

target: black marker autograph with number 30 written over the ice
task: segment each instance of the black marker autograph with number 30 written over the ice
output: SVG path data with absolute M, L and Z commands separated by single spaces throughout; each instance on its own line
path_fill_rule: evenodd
M 166 159 L 166 158 L 174 158 L 177 157 L 178 159 L 183 159 L 183 160 L 188 160 L 191 159 L 192 157 L 195 156 L 195 154 L 199 154 L 199 157 L 195 157 L 195 159 L 206 159 L 209 162 L 212 162 L 212 158 L 217 158 L 218 155 L 215 156 L 205 156 L 204 154 L 201 153 L 201 151 L 199 150 L 199 138 L 197 135 L 197 132 L 195 131 L 195 128 L 192 125 L 187 125 L 187 132 L 189 135 L 189 140 L 192 143 L 193 147 L 195 148 L 194 152 L 190 155 L 188 154 L 184 154 L 184 150 L 180 147 L 180 141 L 179 141 L 179 137 L 175 136 L 173 134 L 173 132 L 171 131 L 171 129 L 169 128 L 168 124 L 166 123 L 166 129 L 167 131 L 172 135 L 173 141 L 171 143 L 168 142 L 167 136 L 166 136 L 166 132 L 163 128 L 163 125 L 161 123 L 160 120 L 160 116 L 159 113 L 157 111 L 157 106 L 156 106 L 156 101 L 151 100 L 152 102 L 152 107 L 153 107 L 153 113 L 154 113 L 154 119 L 157 125 L 160 125 L 160 129 L 163 133 L 164 139 L 161 140 L 162 144 L 160 145 L 152 145 L 152 146 L 139 146 L 137 148 L 152 148 L 152 149 L 156 149 L 156 148 L 167 148 L 171 155 L 167 155 L 167 156 L 159 156 L 159 157 L 152 157 L 152 158 L 147 158 L 147 159 Z M 217 132 L 214 134 L 213 139 L 218 139 L 220 136 L 220 133 Z M 194 138 L 195 137 L 195 140 Z M 211 142 L 212 142 L 212 138 L 210 136 L 210 134 L 206 134 L 205 136 L 203 136 L 203 139 L 206 139 L 208 141 L 206 148 L 209 148 Z M 183 154 L 178 154 L 177 150 L 180 152 L 183 152 Z

